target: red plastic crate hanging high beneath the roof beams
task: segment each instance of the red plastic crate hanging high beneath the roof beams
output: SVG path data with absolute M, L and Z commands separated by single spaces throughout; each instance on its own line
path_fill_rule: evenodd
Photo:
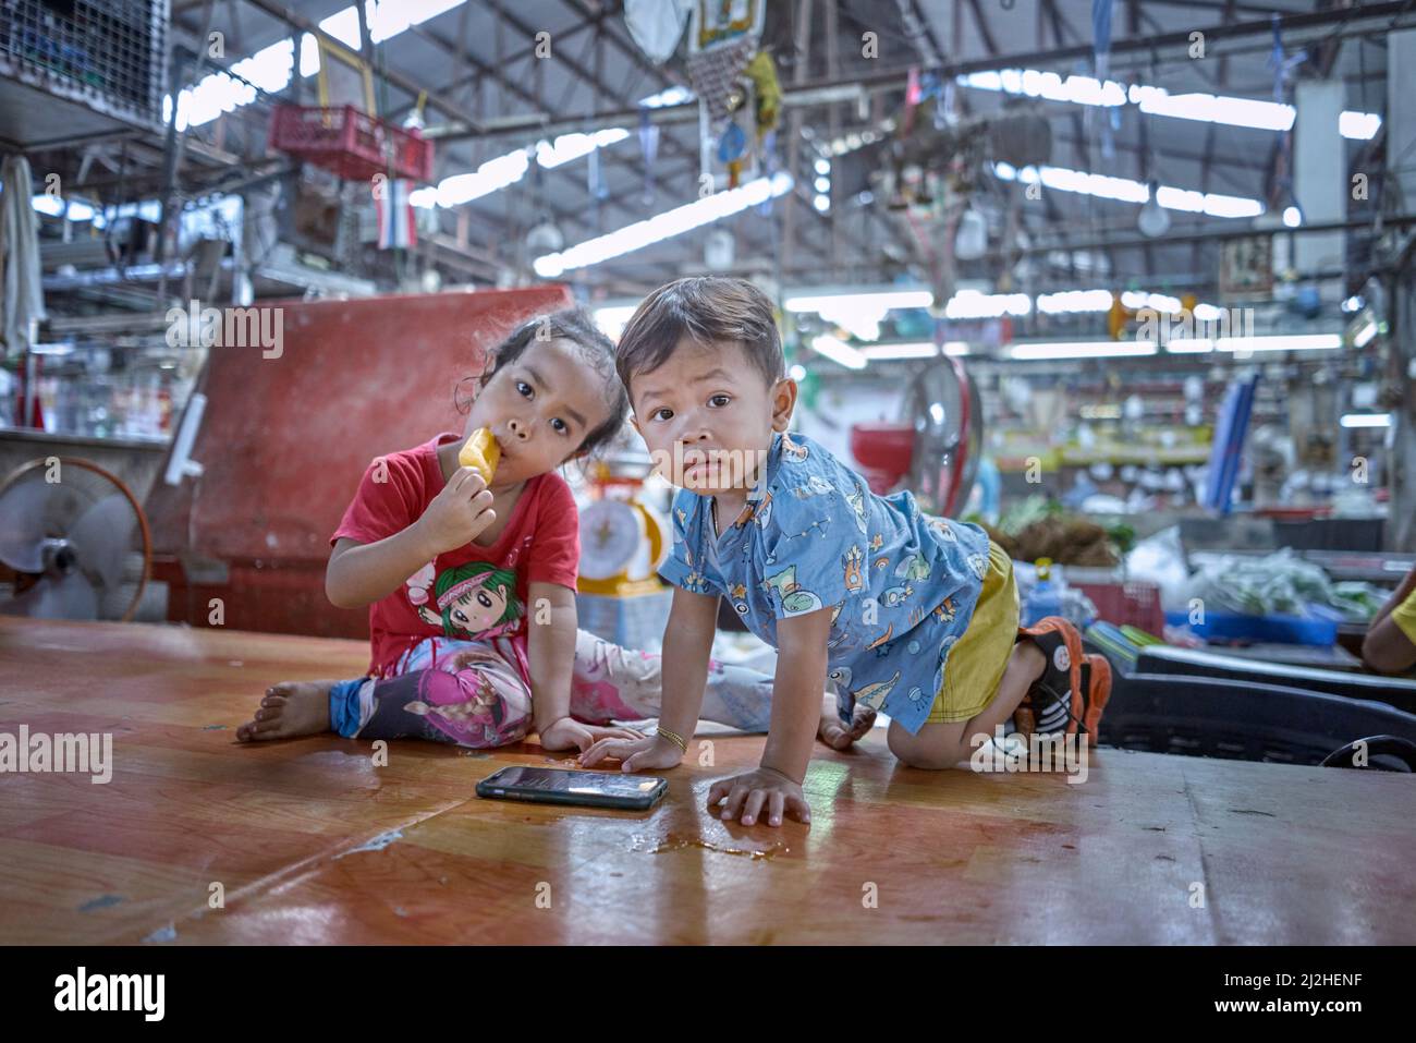
M 433 171 L 432 142 L 353 105 L 278 105 L 270 115 L 270 147 L 347 180 L 388 174 L 426 181 Z

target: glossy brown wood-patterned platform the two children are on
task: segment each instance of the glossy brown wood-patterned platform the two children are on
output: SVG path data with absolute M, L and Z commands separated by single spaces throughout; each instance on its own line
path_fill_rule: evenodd
M 364 662 L 355 642 L 0 619 L 0 731 L 109 731 L 116 764 L 108 785 L 0 775 L 0 942 L 1416 941 L 1410 775 L 1116 750 L 1080 785 L 933 774 L 877 730 L 821 748 L 813 825 L 773 830 L 702 806 L 759 737 L 716 740 L 716 767 L 668 772 L 643 815 L 473 795 L 564 760 L 534 743 L 394 743 L 375 768 L 354 740 L 235 741 L 268 683 Z

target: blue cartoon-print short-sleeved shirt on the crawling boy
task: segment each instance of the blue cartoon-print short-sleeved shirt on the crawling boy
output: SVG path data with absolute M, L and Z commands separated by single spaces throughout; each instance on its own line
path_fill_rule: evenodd
M 861 700 L 919 731 L 983 590 L 983 529 L 925 514 L 909 492 L 877 496 L 810 438 L 783 434 L 722 537 L 709 496 L 678 490 L 673 519 L 666 581 L 728 598 L 773 648 L 779 619 L 831 609 L 843 717 Z

